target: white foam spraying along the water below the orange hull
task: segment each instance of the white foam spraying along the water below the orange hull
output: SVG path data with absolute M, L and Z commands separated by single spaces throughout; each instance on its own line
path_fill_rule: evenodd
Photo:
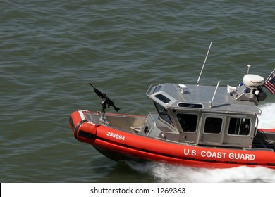
M 204 169 L 158 164 L 152 175 L 160 182 L 275 182 L 275 170 L 264 167 Z

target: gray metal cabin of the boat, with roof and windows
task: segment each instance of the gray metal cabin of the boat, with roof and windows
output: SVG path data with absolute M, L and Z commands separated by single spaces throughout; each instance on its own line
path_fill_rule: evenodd
M 152 84 L 149 113 L 140 134 L 179 144 L 251 148 L 264 97 L 259 87 Z

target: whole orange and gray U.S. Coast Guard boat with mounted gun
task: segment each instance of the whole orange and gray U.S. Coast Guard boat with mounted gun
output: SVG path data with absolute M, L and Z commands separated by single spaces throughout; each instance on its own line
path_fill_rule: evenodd
M 264 87 L 274 89 L 274 80 L 275 69 L 267 80 L 246 74 L 243 85 L 236 87 L 219 87 L 219 82 L 216 87 L 204 86 L 199 80 L 151 84 L 146 95 L 156 111 L 147 116 L 106 113 L 109 106 L 119 108 L 90 84 L 102 98 L 102 110 L 77 110 L 69 126 L 75 139 L 118 162 L 275 169 L 275 128 L 258 128 L 262 111 L 257 108 L 267 96 Z M 275 89 L 270 92 L 275 94 Z

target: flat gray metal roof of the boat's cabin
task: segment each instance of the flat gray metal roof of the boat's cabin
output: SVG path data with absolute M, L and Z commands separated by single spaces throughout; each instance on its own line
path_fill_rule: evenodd
M 192 108 L 192 110 L 209 110 L 213 113 L 261 114 L 253 101 L 234 99 L 231 94 L 228 94 L 226 87 L 216 89 L 216 87 L 202 85 L 180 84 L 181 87 L 178 85 L 152 84 L 147 91 L 147 96 L 166 108 L 184 108 L 185 110 Z M 214 96 L 215 90 L 216 94 Z

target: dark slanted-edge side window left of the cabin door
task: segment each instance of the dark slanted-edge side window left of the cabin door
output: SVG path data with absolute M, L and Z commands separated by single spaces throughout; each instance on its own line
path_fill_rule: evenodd
M 197 115 L 178 113 L 178 122 L 181 124 L 183 132 L 196 132 L 197 130 Z

